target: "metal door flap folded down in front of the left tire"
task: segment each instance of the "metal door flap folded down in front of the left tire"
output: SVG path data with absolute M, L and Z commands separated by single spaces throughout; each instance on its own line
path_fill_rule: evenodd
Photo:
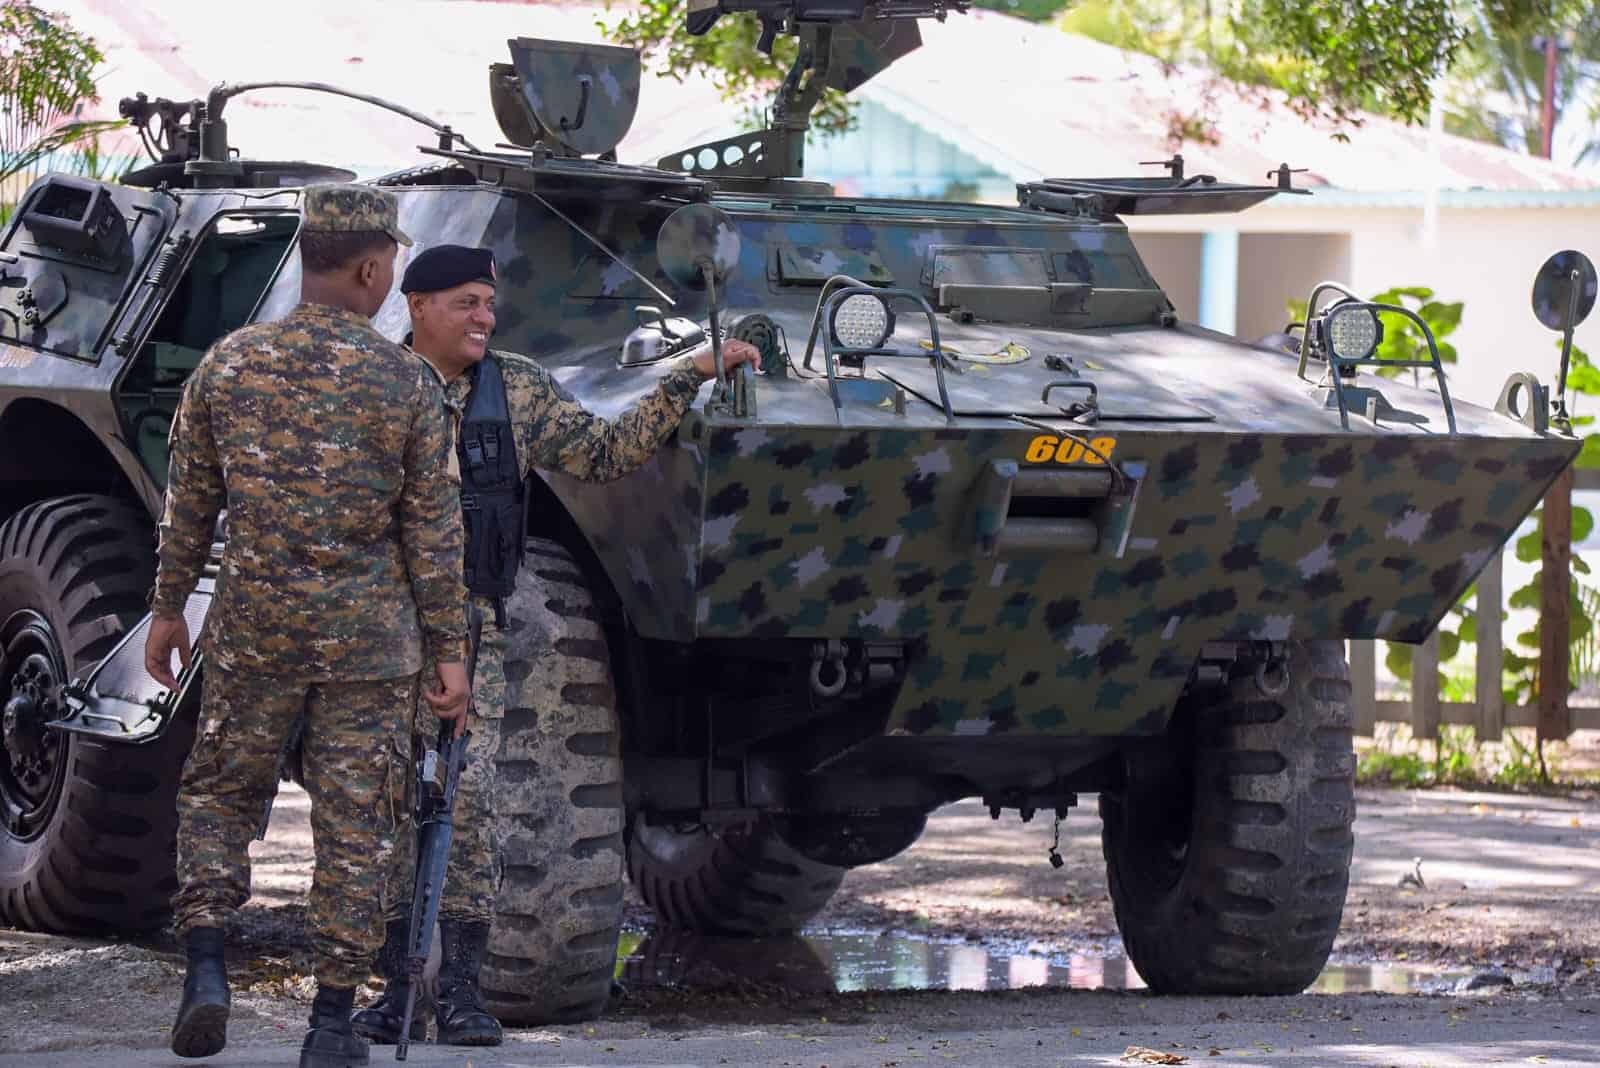
M 189 636 L 194 641 L 198 641 L 206 609 L 211 608 L 213 590 L 214 580 L 202 579 L 184 606 L 184 619 L 189 622 Z M 61 707 L 66 715 L 51 721 L 51 727 L 123 745 L 144 745 L 165 734 L 166 724 L 190 694 L 198 699 L 202 660 L 198 649 L 189 660 L 189 670 L 178 676 L 176 694 L 144 670 L 144 640 L 150 633 L 150 619 L 152 616 L 146 616 L 123 635 L 117 648 L 94 665 L 86 678 L 75 678 L 62 687 Z

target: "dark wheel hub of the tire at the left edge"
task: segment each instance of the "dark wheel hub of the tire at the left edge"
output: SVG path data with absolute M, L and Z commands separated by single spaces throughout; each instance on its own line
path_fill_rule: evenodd
M 0 628 L 0 817 L 13 835 L 29 836 L 50 817 L 64 767 L 56 697 L 66 676 L 61 646 L 37 612 L 14 614 Z

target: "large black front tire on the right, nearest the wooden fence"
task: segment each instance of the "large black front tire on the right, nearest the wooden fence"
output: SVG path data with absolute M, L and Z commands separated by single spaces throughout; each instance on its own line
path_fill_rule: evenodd
M 1245 673 L 1182 710 L 1166 758 L 1101 795 L 1117 926 L 1158 993 L 1294 994 L 1328 961 L 1354 846 L 1349 667 L 1338 641 L 1286 664 L 1275 697 Z

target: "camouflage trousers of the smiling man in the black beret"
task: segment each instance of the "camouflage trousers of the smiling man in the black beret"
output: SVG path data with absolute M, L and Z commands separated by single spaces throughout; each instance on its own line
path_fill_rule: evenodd
M 478 662 L 472 675 L 472 713 L 467 729 L 472 740 L 456 787 L 456 830 L 450 839 L 450 865 L 438 915 L 461 923 L 490 923 L 499 889 L 499 839 L 494 833 L 494 758 L 499 753 L 501 719 L 506 715 L 506 632 L 494 625 L 490 601 L 475 600 L 483 612 Z M 434 684 L 432 665 L 422 668 L 424 684 Z M 416 731 L 432 739 L 438 719 L 427 702 L 418 702 Z M 410 815 L 410 807 L 406 809 Z M 389 889 L 384 894 L 386 919 L 410 918 L 416 887 L 416 835 L 408 820 L 394 852 Z

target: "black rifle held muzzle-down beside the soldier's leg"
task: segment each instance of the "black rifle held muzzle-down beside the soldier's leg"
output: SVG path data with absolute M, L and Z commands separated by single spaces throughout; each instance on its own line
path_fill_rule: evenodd
M 483 617 L 474 606 L 467 628 L 467 713 L 472 711 L 472 684 L 478 667 L 478 640 Z M 461 783 L 461 761 L 466 759 L 472 732 L 454 735 L 454 724 L 438 724 L 438 742 L 422 750 L 416 761 L 416 887 L 411 894 L 411 931 L 406 935 L 405 970 L 410 978 L 405 996 L 405 1018 L 400 1022 L 400 1038 L 395 1042 L 395 1060 L 405 1060 L 411 1046 L 411 1015 L 416 1012 L 416 990 L 422 985 L 422 967 L 427 950 L 434 943 L 434 924 L 438 923 L 438 900 L 445 892 L 445 873 L 450 868 L 450 839 L 456 833 L 456 787 Z M 438 766 L 445 766 L 445 780 L 438 782 Z

